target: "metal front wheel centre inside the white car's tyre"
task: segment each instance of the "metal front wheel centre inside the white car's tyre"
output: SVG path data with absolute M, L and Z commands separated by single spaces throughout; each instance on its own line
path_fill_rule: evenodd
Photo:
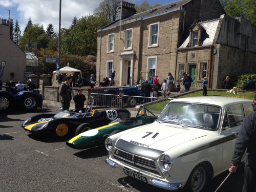
M 200 191 L 205 184 L 206 173 L 205 169 L 198 167 L 191 178 L 191 188 L 193 191 Z

